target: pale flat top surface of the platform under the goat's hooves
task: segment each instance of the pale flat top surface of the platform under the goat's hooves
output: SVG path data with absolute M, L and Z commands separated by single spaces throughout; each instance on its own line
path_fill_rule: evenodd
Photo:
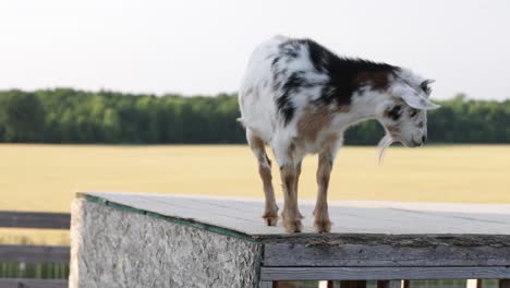
M 148 211 L 166 216 L 193 219 L 198 223 L 233 229 L 258 238 L 265 236 L 286 235 L 281 227 L 267 227 L 260 219 L 262 201 L 243 201 L 232 199 L 183 197 L 155 194 L 122 194 L 122 193 L 85 193 L 105 201 Z M 510 235 L 510 205 L 505 213 L 502 205 L 461 205 L 463 209 L 456 212 L 434 211 L 434 204 L 428 204 L 428 211 L 418 211 L 416 205 L 404 203 L 391 204 L 380 202 L 377 206 L 359 207 L 330 205 L 329 213 L 333 233 L 381 233 L 381 235 L 429 235 L 429 233 L 477 233 L 477 235 Z M 460 205 L 460 204 L 459 204 Z M 458 205 L 458 206 L 459 206 Z M 469 213 L 473 207 L 476 213 Z M 313 233 L 311 204 L 300 205 L 304 219 L 304 232 Z M 462 211 L 462 212 L 459 212 Z M 495 212 L 496 211 L 496 212 Z M 502 213 L 501 213 L 502 212 Z

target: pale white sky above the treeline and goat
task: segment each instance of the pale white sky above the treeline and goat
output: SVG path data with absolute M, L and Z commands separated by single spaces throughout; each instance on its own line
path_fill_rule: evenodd
M 510 98 L 507 0 L 2 0 L 0 89 L 234 92 L 275 34 L 411 68 L 436 98 Z

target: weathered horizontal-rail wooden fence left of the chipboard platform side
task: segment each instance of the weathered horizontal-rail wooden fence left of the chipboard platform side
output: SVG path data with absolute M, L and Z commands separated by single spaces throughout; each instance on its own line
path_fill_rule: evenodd
M 65 229 L 70 228 L 66 213 L 34 213 L 0 211 L 0 228 Z M 70 248 L 60 245 L 0 244 L 0 262 L 69 263 Z M 0 288 L 68 287 L 66 279 L 0 278 Z

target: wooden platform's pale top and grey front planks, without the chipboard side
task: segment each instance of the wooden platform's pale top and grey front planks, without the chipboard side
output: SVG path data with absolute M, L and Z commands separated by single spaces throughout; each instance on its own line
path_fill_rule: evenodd
M 257 243 L 260 287 L 298 279 L 510 278 L 510 205 L 332 202 L 332 231 L 317 235 L 312 229 L 313 203 L 303 202 L 304 232 L 287 235 L 281 227 L 264 225 L 260 200 L 97 192 L 81 196 Z

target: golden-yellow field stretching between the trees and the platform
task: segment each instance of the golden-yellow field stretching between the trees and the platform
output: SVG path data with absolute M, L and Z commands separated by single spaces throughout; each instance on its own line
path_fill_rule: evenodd
M 316 161 L 305 158 L 300 199 L 315 197 Z M 277 167 L 274 173 L 281 196 Z M 0 209 L 68 212 L 76 191 L 263 196 L 244 145 L 0 145 Z M 510 145 L 391 147 L 381 166 L 375 147 L 345 147 L 329 199 L 510 203 Z M 0 242 L 20 241 L 12 232 L 0 230 Z M 65 242 L 65 235 L 36 242 Z

